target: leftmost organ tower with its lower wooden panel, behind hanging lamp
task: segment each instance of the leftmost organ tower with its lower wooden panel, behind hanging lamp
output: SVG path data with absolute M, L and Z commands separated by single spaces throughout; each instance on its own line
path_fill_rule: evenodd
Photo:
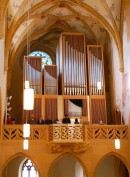
M 25 56 L 23 64 L 23 87 L 25 81 L 29 81 L 30 88 L 34 89 L 34 109 L 23 111 L 23 122 L 28 121 L 31 115 L 37 122 L 42 114 L 42 60 L 41 57 Z M 27 114 L 27 115 L 26 115 Z

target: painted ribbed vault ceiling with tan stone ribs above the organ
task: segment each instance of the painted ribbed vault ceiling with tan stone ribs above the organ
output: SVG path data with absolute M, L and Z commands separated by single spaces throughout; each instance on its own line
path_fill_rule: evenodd
M 89 44 L 101 45 L 109 33 L 120 50 L 122 3 L 122 0 L 9 0 L 6 57 L 10 56 L 10 68 L 18 51 L 26 46 L 27 38 L 53 46 L 62 31 L 83 32 Z

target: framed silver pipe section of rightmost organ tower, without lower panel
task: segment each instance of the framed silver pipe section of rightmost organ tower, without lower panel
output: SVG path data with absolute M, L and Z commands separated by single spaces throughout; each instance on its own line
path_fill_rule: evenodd
M 90 95 L 104 95 L 104 73 L 101 46 L 88 46 Z

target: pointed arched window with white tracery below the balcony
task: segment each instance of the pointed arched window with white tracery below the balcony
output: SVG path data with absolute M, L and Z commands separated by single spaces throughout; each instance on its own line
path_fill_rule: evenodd
M 22 166 L 21 177 L 39 177 L 35 165 L 27 159 Z

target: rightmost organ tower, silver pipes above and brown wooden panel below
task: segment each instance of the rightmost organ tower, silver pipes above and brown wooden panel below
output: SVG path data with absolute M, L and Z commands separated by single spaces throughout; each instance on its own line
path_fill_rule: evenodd
M 92 124 L 107 123 L 103 49 L 88 45 L 88 80 Z

